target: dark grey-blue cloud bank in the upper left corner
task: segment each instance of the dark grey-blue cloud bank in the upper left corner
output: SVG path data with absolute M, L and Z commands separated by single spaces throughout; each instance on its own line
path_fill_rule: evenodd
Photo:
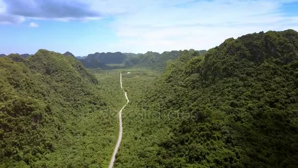
M 18 24 L 28 19 L 94 20 L 100 14 L 83 0 L 0 0 L 0 23 Z

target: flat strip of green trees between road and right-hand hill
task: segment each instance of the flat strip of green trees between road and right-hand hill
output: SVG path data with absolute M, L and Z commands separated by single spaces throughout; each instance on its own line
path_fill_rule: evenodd
M 114 166 L 116 168 L 154 168 L 157 164 L 152 159 L 156 157 L 157 149 L 154 142 L 162 140 L 165 136 L 165 124 L 155 117 L 151 118 L 158 116 L 158 113 L 142 109 L 140 100 L 160 74 L 138 68 L 123 69 L 122 72 L 123 87 L 127 91 L 130 102 L 122 112 L 123 140 Z

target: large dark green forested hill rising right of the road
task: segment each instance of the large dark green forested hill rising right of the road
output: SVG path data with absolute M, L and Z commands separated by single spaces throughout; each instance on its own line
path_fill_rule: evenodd
M 297 51 L 294 30 L 227 39 L 205 56 L 183 51 L 139 102 L 149 114 L 158 112 L 155 121 L 139 122 L 156 123 L 163 138 L 150 139 L 146 134 L 159 136 L 138 127 L 148 139 L 138 139 L 146 146 L 130 164 L 297 167 Z

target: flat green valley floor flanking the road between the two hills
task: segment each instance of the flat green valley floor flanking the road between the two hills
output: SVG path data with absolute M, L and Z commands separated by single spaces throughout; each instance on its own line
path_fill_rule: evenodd
M 113 123 L 118 119 L 116 112 L 118 112 L 126 103 L 124 93 L 120 86 L 119 77 L 121 72 L 122 85 L 129 97 L 129 104 L 127 104 L 122 111 L 123 136 L 116 154 L 114 167 L 142 167 L 148 163 L 144 163 L 139 159 L 139 152 L 143 150 L 143 148 L 148 149 L 147 145 L 151 144 L 151 142 L 148 143 L 148 140 L 157 138 L 155 136 L 160 133 L 158 130 L 153 131 L 156 128 L 156 125 L 151 122 L 150 117 L 147 116 L 146 112 L 140 107 L 138 102 L 141 97 L 146 94 L 149 86 L 153 84 L 160 74 L 155 71 L 135 68 L 104 71 L 94 70 L 94 74 L 98 77 L 99 85 L 102 89 L 101 91 L 104 94 L 103 97 L 105 98 L 105 101 L 109 102 L 109 106 L 111 106 L 111 111 L 114 115 Z M 130 72 L 130 74 L 126 74 L 127 72 Z M 111 141 L 111 146 L 113 147 L 109 150 L 109 157 L 112 156 L 112 150 L 116 144 L 119 132 L 118 121 L 117 126 L 113 126 L 113 129 L 115 129 L 113 135 L 109 134 L 113 137 L 113 141 Z M 149 130 L 151 134 L 148 134 L 146 130 Z M 104 163 L 106 163 L 106 161 Z M 139 164 L 136 165 L 136 163 Z M 107 167 L 108 165 L 104 164 L 103 166 Z

